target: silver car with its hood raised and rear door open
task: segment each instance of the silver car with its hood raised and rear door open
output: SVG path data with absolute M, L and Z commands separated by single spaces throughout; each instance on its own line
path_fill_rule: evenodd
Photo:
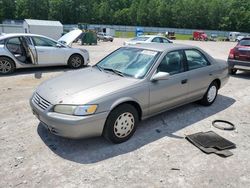
M 89 63 L 85 49 L 69 47 L 79 35 L 77 31 L 66 34 L 59 41 L 34 34 L 5 34 L 0 36 L 0 74 L 15 69 L 68 65 L 81 68 Z M 82 32 L 81 32 L 82 33 Z

